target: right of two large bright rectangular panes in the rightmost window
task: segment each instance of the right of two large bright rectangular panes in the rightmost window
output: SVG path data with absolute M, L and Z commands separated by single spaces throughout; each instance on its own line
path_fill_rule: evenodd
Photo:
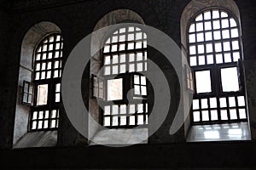
M 236 67 L 221 69 L 221 83 L 224 92 L 239 91 Z

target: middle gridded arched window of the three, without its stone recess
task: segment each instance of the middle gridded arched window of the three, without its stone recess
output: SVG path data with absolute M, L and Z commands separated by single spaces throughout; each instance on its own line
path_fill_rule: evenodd
M 140 74 L 147 71 L 147 35 L 141 28 L 126 26 L 113 31 L 106 39 L 102 50 L 102 77 L 106 80 L 102 125 L 132 127 L 147 124 L 147 80 Z M 134 90 L 130 92 L 132 88 Z M 102 89 L 99 94 L 103 94 Z

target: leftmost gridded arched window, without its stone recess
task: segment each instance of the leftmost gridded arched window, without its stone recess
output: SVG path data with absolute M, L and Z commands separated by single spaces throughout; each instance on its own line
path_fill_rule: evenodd
M 30 130 L 58 127 L 61 101 L 62 47 L 61 34 L 50 34 L 44 37 L 35 49 L 32 76 L 34 98 L 30 116 Z M 24 98 L 26 98 L 26 94 Z

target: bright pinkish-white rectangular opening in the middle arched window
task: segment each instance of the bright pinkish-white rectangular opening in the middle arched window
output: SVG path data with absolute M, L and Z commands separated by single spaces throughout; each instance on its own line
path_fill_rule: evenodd
M 123 79 L 108 80 L 108 100 L 123 99 Z

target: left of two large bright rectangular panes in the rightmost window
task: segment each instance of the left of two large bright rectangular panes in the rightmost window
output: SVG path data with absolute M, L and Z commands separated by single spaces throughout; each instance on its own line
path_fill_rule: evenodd
M 195 71 L 195 83 L 197 94 L 212 92 L 210 71 Z

